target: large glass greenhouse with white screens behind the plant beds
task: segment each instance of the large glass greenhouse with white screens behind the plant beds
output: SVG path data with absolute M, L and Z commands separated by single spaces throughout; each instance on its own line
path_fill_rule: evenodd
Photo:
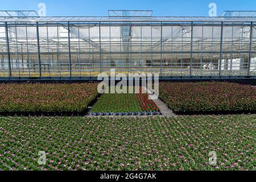
M 99 73 L 159 73 L 161 78 L 256 77 L 256 13 L 218 17 L 39 17 L 0 11 L 0 80 L 93 79 Z

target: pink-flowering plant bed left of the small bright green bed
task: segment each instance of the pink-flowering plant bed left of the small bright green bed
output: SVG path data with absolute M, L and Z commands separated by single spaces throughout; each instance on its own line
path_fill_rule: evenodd
M 97 96 L 97 83 L 0 84 L 0 113 L 81 112 Z

